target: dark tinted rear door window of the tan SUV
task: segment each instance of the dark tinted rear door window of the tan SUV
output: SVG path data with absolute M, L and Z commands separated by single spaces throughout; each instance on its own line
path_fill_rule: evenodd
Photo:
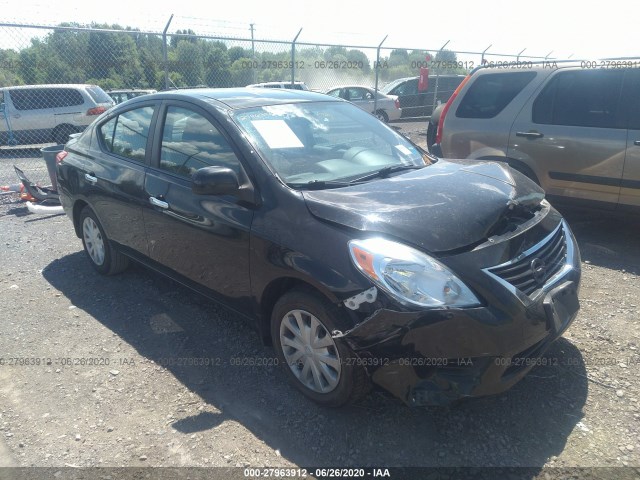
M 560 72 L 533 103 L 533 122 L 626 128 L 620 95 L 624 70 Z

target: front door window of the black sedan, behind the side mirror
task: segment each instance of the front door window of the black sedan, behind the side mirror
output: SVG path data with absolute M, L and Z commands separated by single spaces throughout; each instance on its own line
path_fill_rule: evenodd
M 240 172 L 240 161 L 229 142 L 209 120 L 192 110 L 170 106 L 162 130 L 160 169 L 191 176 L 211 166 Z

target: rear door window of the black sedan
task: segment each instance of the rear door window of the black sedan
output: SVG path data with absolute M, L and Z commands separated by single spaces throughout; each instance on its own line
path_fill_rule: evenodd
M 144 162 L 153 111 L 151 106 L 127 110 L 100 125 L 99 136 L 106 150 Z

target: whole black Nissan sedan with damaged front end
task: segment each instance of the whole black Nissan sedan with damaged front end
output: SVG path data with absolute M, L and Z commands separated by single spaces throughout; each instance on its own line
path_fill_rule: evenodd
M 98 272 L 133 259 L 249 317 L 323 405 L 504 391 L 579 308 L 575 239 L 538 186 L 326 95 L 145 95 L 58 161 Z

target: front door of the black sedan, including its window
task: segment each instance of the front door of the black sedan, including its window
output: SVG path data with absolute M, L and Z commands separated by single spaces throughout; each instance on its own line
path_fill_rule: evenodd
M 196 195 L 191 175 L 223 166 L 246 173 L 238 149 L 206 111 L 184 102 L 163 106 L 144 185 L 149 255 L 156 262 L 248 311 L 249 233 L 253 210 L 232 195 Z

